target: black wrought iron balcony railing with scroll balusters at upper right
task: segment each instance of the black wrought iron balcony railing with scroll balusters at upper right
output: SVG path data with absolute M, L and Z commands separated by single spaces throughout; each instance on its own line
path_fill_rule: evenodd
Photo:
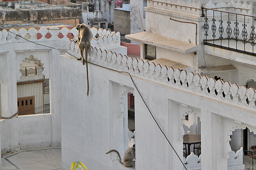
M 208 8 L 202 10 L 205 45 L 256 56 L 256 16 Z

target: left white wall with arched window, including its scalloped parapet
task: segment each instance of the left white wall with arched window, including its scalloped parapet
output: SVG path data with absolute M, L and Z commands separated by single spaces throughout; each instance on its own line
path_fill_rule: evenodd
M 53 27 L 53 29 L 58 28 Z M 25 38 L 29 38 L 30 36 L 27 35 L 30 34 L 30 41 L 37 41 L 39 44 L 63 50 L 39 46 L 19 38 L 19 40 L 16 40 L 14 34 L 12 36 L 10 35 L 11 32 L 20 34 Z M 64 35 L 62 39 L 57 37 L 60 32 Z M 101 36 L 101 39 L 98 39 L 99 41 L 94 41 L 94 44 L 92 44 L 93 47 L 99 45 L 99 47 L 107 48 L 109 51 L 115 49 L 122 55 L 127 54 L 127 48 L 120 47 L 120 33 L 102 29 L 94 29 L 92 32 L 94 36 L 97 33 Z M 52 37 L 46 39 L 43 36 L 42 39 L 35 40 L 36 33 L 41 33 L 42 35 L 51 33 Z M 13 151 L 15 148 L 60 146 L 61 107 L 59 102 L 62 94 L 60 93 L 61 82 L 59 81 L 59 77 L 61 73 L 59 67 L 62 67 L 62 65 L 60 65 L 58 56 L 65 54 L 65 50 L 67 49 L 65 45 L 67 45 L 67 42 L 69 42 L 68 45 L 71 43 L 66 36 L 68 33 L 73 33 L 75 38 L 77 37 L 76 28 L 69 30 L 66 27 L 59 31 L 44 28 L 41 28 L 39 31 L 34 28 L 30 28 L 29 31 L 22 28 L 19 32 L 15 29 L 11 29 L 10 32 L 6 30 L 0 31 L 0 37 L 4 37 L 0 39 L 0 129 L 2 152 Z M 8 41 L 6 41 L 7 36 L 9 37 Z M 74 41 L 72 42 L 74 43 Z M 75 54 L 77 51 L 72 51 L 71 53 Z M 45 78 L 49 78 L 50 85 L 49 102 L 51 103 L 51 113 L 16 117 L 17 97 L 19 96 L 17 95 L 17 81 L 19 81 L 21 76 L 20 63 L 30 55 L 38 57 L 44 63 L 43 74 Z

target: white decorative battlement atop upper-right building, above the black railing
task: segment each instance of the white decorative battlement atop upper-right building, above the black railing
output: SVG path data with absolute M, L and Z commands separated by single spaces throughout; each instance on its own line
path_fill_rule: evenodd
M 225 12 L 235 12 L 237 14 L 244 15 L 252 15 L 253 12 L 252 2 L 247 4 L 247 1 L 244 1 L 244 3 L 242 4 L 240 0 L 238 0 L 237 3 L 234 2 L 234 0 L 231 0 L 228 3 L 220 0 L 219 3 L 216 4 L 212 3 L 212 1 L 207 2 L 207 4 L 203 4 L 199 0 L 171 0 L 168 3 L 158 0 L 148 0 L 147 7 L 145 7 L 144 10 L 147 12 L 159 13 L 162 15 L 173 16 L 177 18 L 201 21 L 200 17 L 202 17 L 203 13 L 202 7 L 222 10 Z M 209 16 L 212 14 L 213 12 L 208 13 Z M 187 15 L 189 15 L 190 17 L 188 17 Z M 195 19 L 195 17 L 197 17 L 197 19 Z

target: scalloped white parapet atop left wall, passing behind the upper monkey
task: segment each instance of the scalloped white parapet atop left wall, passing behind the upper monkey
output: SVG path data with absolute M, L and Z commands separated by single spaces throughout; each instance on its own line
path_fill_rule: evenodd
M 99 30 L 95 27 L 91 28 L 93 38 L 91 41 L 92 47 L 102 48 L 102 49 L 111 49 L 120 46 L 120 33 L 119 32 L 111 32 L 110 30 L 102 29 Z M 41 39 L 36 38 L 37 33 L 42 35 Z M 47 39 L 45 36 L 47 33 L 52 35 L 51 38 Z M 64 36 L 63 38 L 59 38 L 59 33 L 62 33 Z M 76 27 L 72 29 L 68 29 L 67 27 L 62 27 L 59 29 L 58 27 L 52 26 L 49 30 L 47 28 L 40 28 L 36 30 L 35 28 L 31 27 L 28 30 L 25 28 L 20 28 L 16 30 L 15 28 L 11 28 L 9 31 L 6 29 L 0 31 L 0 44 L 8 43 L 8 42 L 25 42 L 25 39 L 20 38 L 17 35 L 20 35 L 23 38 L 28 39 L 29 41 L 67 41 L 69 40 L 71 44 L 75 42 L 75 39 L 68 39 L 68 33 L 72 33 L 74 38 L 77 39 L 77 30 Z M 98 34 L 99 37 L 95 37 Z M 77 46 L 77 45 L 76 45 Z

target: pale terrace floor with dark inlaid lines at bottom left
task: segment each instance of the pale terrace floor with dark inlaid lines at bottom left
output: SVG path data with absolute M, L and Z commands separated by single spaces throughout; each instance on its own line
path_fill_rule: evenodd
M 60 147 L 20 149 L 2 155 L 4 170 L 57 170 L 61 168 Z

